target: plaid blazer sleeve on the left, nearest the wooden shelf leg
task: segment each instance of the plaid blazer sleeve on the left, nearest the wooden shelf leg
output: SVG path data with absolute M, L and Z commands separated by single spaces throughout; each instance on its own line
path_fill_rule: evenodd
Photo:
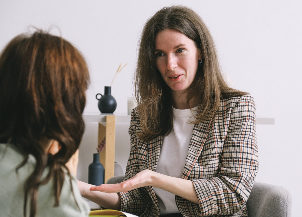
M 143 141 L 140 140 L 136 135 L 136 133 L 140 130 L 139 125 L 140 120 L 137 116 L 137 109 L 134 109 L 131 113 L 131 121 L 129 127 L 130 155 L 127 162 L 124 180 L 130 179 L 142 170 L 140 168 L 140 153 L 138 153 L 138 145 Z M 143 212 L 146 212 L 148 207 L 150 208 L 150 205 L 152 203 L 148 194 L 147 187 L 138 188 L 129 192 L 120 192 L 119 196 L 121 200 L 120 210 L 131 213 L 133 215 L 141 216 Z

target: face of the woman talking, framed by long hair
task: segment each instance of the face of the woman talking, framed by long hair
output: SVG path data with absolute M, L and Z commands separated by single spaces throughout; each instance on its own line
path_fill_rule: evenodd
M 177 30 L 167 29 L 155 37 L 155 64 L 172 94 L 182 94 L 192 84 L 201 56 L 194 41 Z

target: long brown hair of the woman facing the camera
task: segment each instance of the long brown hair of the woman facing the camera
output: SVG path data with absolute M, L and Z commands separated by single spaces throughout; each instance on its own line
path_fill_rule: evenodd
M 134 93 L 142 125 L 142 132 L 138 132 L 138 136 L 145 140 L 167 135 L 173 127 L 170 88 L 156 68 L 154 54 L 156 34 L 166 29 L 184 34 L 202 52 L 203 65 L 198 67 L 187 93 L 187 103 L 194 96 L 200 97 L 202 102 L 202 112 L 194 123 L 201 123 L 209 115 L 213 115 L 218 110 L 221 99 L 245 94 L 228 87 L 224 81 L 214 41 L 200 16 L 185 6 L 162 8 L 143 28 L 135 72 Z

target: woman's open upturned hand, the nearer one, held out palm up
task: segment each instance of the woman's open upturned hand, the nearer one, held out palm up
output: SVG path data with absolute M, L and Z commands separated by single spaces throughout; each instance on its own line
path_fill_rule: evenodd
M 127 181 L 118 184 L 102 184 L 100 186 L 93 186 L 90 190 L 105 193 L 127 192 L 140 187 L 152 185 L 151 183 L 154 176 L 156 176 L 156 172 L 143 170 Z

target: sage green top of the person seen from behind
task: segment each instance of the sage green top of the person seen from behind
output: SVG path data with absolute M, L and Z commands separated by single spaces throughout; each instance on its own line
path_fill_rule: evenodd
M 11 144 L 0 144 L 0 216 L 23 217 L 24 206 L 24 182 L 34 170 L 36 160 L 32 155 L 26 164 L 16 167 L 23 161 L 23 155 Z M 43 177 L 47 175 L 46 168 Z M 55 203 L 53 193 L 53 180 L 46 185 L 39 187 L 37 197 L 36 217 L 43 216 L 88 216 L 90 208 L 88 203 L 82 198 L 76 179 L 72 177 L 72 188 L 75 197 L 72 195 L 69 176 L 65 175 L 65 182 L 62 187 L 59 206 L 53 207 Z M 76 205 L 76 202 L 79 206 Z M 27 202 L 27 216 L 29 216 L 29 203 Z

